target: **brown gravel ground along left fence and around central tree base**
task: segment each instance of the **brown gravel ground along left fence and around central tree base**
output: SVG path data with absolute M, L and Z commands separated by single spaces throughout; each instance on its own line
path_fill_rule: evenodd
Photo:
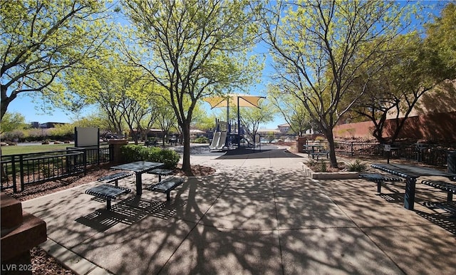
M 51 182 L 44 182 L 36 185 L 26 185 L 23 192 L 14 194 L 11 189 L 4 190 L 6 194 L 14 197 L 20 201 L 26 201 L 36 197 L 41 197 L 45 194 L 51 194 L 61 190 L 66 190 L 71 187 L 83 185 L 88 182 L 95 182 L 99 177 L 105 175 L 114 174 L 115 171 L 110 171 L 109 167 L 112 165 L 100 165 L 90 167 L 87 175 L 78 175 L 74 177 L 67 177 L 62 180 L 56 180 Z M 214 173 L 215 170 L 212 167 L 205 167 L 201 165 L 192 165 L 192 175 L 209 175 Z M 184 175 L 184 172 L 180 170 L 180 167 L 175 169 L 175 175 Z M 33 247 L 30 251 L 32 274 L 36 275 L 54 275 L 54 274 L 74 274 L 71 269 L 67 269 L 59 261 L 54 259 L 52 256 L 46 253 L 41 247 Z

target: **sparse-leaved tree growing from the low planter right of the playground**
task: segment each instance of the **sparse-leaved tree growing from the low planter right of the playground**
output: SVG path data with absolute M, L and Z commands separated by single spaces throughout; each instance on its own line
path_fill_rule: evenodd
M 326 135 L 331 167 L 338 166 L 333 128 L 366 90 L 352 94 L 344 106 L 339 103 L 361 73 L 373 76 L 378 70 L 379 64 L 363 65 L 373 54 L 385 53 L 388 42 L 403 31 L 407 7 L 393 1 L 302 0 L 261 9 L 274 84 L 304 105 Z M 361 72 L 363 68 L 368 71 Z

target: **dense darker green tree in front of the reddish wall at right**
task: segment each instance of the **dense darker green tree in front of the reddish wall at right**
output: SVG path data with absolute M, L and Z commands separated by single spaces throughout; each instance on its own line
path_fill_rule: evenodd
M 371 78 L 368 93 L 353 108 L 358 115 L 373 122 L 373 136 L 380 143 L 394 142 L 398 138 L 423 95 L 438 85 L 445 85 L 443 81 L 456 78 L 456 58 L 448 54 L 451 48 L 456 48 L 455 11 L 455 5 L 448 4 L 442 10 L 442 18 L 435 19 L 435 24 L 425 25 L 425 38 L 416 33 L 395 38 L 394 51 L 382 57 L 383 68 Z M 442 46 L 435 43 L 437 40 L 442 41 Z M 364 85 L 365 78 L 361 76 L 358 85 Z M 389 113 L 395 114 L 395 120 L 393 134 L 387 140 L 383 130 Z

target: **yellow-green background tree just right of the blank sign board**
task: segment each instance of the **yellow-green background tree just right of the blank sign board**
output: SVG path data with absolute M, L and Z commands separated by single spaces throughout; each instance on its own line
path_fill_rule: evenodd
M 124 128 L 130 128 L 138 142 L 133 129 L 140 127 L 139 121 L 147 114 L 145 109 L 152 109 L 152 85 L 142 81 L 142 71 L 128 66 L 114 51 L 100 51 L 102 56 L 84 62 L 84 69 L 69 70 L 66 74 L 66 87 L 73 92 L 67 101 L 73 110 L 98 106 L 108 118 L 108 130 L 122 136 Z

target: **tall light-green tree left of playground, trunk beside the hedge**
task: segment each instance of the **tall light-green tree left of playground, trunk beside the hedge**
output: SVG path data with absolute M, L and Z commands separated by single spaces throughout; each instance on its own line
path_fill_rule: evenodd
M 123 4 L 135 26 L 138 40 L 134 44 L 147 49 L 130 51 L 130 61 L 167 91 L 164 98 L 183 134 L 182 170 L 190 172 L 190 125 L 197 102 L 252 83 L 252 76 L 260 71 L 256 58 L 247 55 L 257 32 L 249 1 L 136 0 Z

